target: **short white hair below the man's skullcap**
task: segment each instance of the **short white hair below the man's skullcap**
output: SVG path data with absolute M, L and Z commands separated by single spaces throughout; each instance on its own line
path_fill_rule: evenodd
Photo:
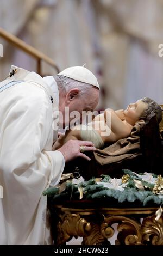
M 65 94 L 74 88 L 78 88 L 80 90 L 81 96 L 85 96 L 86 94 L 91 93 L 92 88 L 98 90 L 98 88 L 92 86 L 91 84 L 79 82 L 77 80 L 62 75 L 54 76 L 54 79 L 57 82 L 59 90 L 61 90 Z

